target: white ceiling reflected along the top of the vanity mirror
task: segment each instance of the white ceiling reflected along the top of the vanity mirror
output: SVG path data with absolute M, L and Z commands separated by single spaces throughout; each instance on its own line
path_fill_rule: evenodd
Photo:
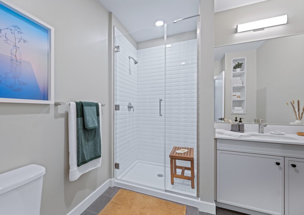
M 230 46 L 221 46 L 214 48 L 214 60 L 220 61 L 226 53 L 239 52 L 239 51 L 249 51 L 256 50 L 260 47 L 266 40 L 255 41 L 250 43 L 241 43 Z

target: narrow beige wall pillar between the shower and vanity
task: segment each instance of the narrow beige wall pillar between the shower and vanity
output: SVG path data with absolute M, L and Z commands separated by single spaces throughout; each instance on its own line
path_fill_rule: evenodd
M 215 144 L 214 144 L 214 0 L 200 2 L 199 57 L 199 210 L 215 214 Z

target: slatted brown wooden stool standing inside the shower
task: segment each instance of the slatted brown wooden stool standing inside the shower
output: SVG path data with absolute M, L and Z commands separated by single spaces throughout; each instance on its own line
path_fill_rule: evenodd
M 177 153 L 176 151 L 180 149 L 188 149 L 185 153 Z M 172 151 L 169 155 L 170 158 L 170 171 L 171 171 L 171 184 L 174 184 L 174 178 L 178 179 L 186 179 L 191 181 L 191 188 L 194 188 L 194 148 L 188 148 L 188 147 L 178 147 L 174 146 L 172 148 Z M 191 167 L 185 167 L 185 166 L 177 166 L 176 160 L 181 161 L 190 161 Z M 181 175 L 177 175 L 176 169 L 181 169 Z M 185 170 L 191 171 L 191 177 L 185 176 Z

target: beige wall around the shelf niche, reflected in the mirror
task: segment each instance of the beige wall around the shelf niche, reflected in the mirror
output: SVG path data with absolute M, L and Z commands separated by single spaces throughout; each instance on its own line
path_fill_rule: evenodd
M 246 57 L 246 114 L 231 114 L 231 72 L 232 59 Z M 256 118 L 257 101 L 257 54 L 256 50 L 225 54 L 225 118 L 234 121 L 244 118 L 243 122 L 253 122 Z

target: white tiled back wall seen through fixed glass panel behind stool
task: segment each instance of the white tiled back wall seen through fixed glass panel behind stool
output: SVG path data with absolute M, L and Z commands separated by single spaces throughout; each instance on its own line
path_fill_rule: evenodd
M 172 43 L 166 48 L 166 165 L 173 146 L 191 147 L 196 169 L 196 100 L 197 40 Z

